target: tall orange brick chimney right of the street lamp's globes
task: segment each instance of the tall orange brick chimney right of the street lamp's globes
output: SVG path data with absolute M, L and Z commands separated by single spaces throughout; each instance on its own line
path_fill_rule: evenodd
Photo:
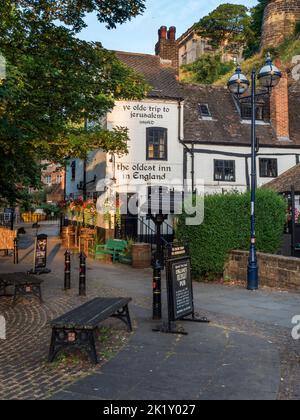
M 280 68 L 280 62 L 276 66 Z M 279 84 L 271 95 L 271 124 L 280 141 L 290 140 L 288 75 L 283 72 Z

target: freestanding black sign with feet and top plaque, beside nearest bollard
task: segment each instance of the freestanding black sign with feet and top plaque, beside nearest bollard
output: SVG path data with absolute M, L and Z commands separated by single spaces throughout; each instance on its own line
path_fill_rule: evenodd
M 191 258 L 185 246 L 170 245 L 166 269 L 168 321 L 154 331 L 187 335 L 183 329 L 176 328 L 176 321 L 207 324 L 209 320 L 205 317 L 197 318 L 195 314 Z

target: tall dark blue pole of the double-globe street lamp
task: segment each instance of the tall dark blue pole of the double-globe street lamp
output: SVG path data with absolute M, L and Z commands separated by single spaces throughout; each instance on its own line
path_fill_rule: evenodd
M 256 254 L 255 206 L 256 206 L 256 69 L 252 71 L 252 123 L 251 123 L 251 244 L 248 261 L 248 290 L 257 290 L 259 286 Z

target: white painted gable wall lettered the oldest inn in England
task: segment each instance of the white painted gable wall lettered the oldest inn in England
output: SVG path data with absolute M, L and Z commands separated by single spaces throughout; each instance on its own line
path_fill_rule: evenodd
M 179 137 L 179 110 L 177 101 L 117 102 L 107 117 L 108 128 L 117 126 L 129 130 L 129 153 L 107 159 L 107 172 L 117 179 L 119 191 L 135 192 L 135 186 L 183 184 L 183 146 Z M 146 130 L 148 127 L 168 129 L 168 160 L 146 159 Z M 149 177 L 150 175 L 150 177 Z M 151 179 L 153 177 L 153 179 Z M 175 181 L 175 185 L 174 185 Z

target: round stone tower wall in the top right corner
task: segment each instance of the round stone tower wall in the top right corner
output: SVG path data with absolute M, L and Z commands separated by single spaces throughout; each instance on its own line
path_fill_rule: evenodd
M 300 20 L 300 0 L 270 0 L 265 9 L 261 48 L 276 47 Z

